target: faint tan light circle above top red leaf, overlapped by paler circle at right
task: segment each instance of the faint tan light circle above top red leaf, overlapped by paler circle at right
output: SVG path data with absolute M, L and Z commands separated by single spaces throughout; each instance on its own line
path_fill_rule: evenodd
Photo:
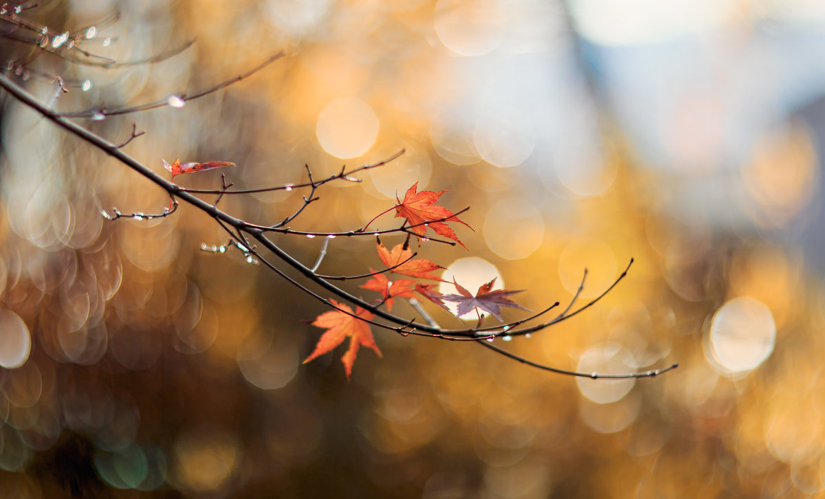
M 468 115 L 462 109 L 450 109 L 430 123 L 432 146 L 441 158 L 456 165 L 469 165 L 480 159 L 473 139 L 473 123 Z

